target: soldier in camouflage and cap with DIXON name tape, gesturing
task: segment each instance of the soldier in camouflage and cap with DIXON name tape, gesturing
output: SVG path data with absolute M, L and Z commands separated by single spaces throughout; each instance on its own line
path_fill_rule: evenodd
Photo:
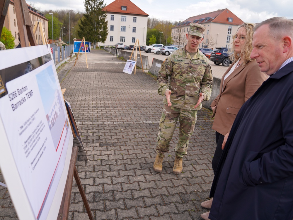
M 212 70 L 209 60 L 198 47 L 203 40 L 205 27 L 190 23 L 185 47 L 174 51 L 162 63 L 157 82 L 158 93 L 165 96 L 159 124 L 154 170 L 162 171 L 164 153 L 169 150 L 176 123 L 179 120 L 179 140 L 175 150 L 173 173 L 182 172 L 182 158 L 193 133 L 197 110 L 202 101 L 209 100 L 212 92 Z M 170 82 L 168 84 L 168 77 Z

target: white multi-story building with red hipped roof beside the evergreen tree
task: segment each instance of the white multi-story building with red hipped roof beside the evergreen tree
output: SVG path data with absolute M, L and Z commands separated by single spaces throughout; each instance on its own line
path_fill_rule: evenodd
M 107 11 L 108 36 L 104 45 L 124 43 L 134 45 L 139 40 L 140 45 L 146 45 L 147 13 L 139 9 L 129 0 L 115 0 L 104 7 Z

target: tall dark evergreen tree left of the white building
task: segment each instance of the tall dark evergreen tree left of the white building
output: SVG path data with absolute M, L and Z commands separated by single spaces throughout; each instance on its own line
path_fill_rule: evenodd
M 85 0 L 84 7 L 86 13 L 80 21 L 78 35 L 94 44 L 104 43 L 108 35 L 107 12 L 103 11 L 104 1 Z

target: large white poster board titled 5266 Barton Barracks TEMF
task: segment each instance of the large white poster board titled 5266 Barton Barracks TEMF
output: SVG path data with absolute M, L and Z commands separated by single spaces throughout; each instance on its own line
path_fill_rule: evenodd
M 73 136 L 48 45 L 0 52 L 3 173 L 19 219 L 57 219 Z

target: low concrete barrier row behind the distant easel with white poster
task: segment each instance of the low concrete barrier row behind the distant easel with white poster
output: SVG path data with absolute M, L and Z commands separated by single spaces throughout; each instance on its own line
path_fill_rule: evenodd
M 109 48 L 109 47 L 104 47 L 104 50 L 110 52 L 111 54 L 115 54 L 115 48 Z M 141 51 L 142 53 L 142 51 Z M 130 59 L 130 55 L 131 55 L 131 51 L 128 50 L 118 50 L 118 57 L 123 57 L 125 60 L 129 60 Z M 133 51 L 132 57 L 136 56 L 136 51 Z M 134 58 L 132 58 L 132 60 L 134 60 Z M 143 67 L 143 69 L 150 69 L 150 65 L 149 65 L 149 57 L 142 55 L 142 62 L 140 60 L 140 56 L 139 56 L 139 51 L 137 51 L 137 59 L 136 59 L 136 65 L 140 68 Z

